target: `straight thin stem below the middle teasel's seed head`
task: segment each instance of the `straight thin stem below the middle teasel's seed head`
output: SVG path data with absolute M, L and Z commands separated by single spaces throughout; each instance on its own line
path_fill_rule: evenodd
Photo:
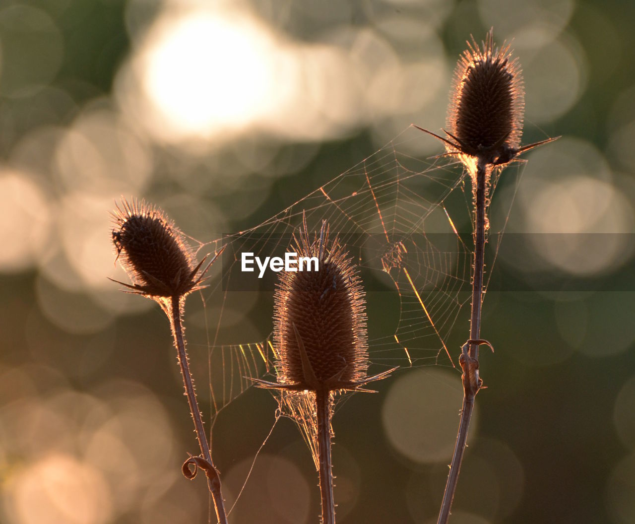
M 333 474 L 331 464 L 331 392 L 317 389 L 319 490 L 322 496 L 322 524 L 335 524 Z

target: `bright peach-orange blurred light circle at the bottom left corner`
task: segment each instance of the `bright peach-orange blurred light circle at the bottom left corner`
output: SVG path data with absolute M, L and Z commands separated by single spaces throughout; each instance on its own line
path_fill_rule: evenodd
M 102 524 L 112 519 L 110 494 L 101 474 L 63 453 L 18 469 L 10 504 L 20 524 Z

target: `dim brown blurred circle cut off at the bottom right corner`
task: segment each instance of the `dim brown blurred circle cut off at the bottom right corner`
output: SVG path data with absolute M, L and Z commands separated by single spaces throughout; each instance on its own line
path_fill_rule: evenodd
M 613 467 L 606 482 L 606 506 L 612 522 L 635 521 L 635 454 L 631 453 Z

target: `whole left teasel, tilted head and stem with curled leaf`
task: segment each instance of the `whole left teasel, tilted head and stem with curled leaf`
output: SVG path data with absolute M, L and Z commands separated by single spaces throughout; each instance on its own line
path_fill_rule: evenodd
M 217 252 L 205 267 L 203 264 L 207 257 L 203 257 L 196 264 L 196 257 L 184 234 L 159 208 L 144 201 L 128 202 L 122 199 L 121 204 L 116 205 L 112 218 L 112 243 L 117 255 L 116 260 L 128 273 L 132 284 L 115 282 L 125 286 L 130 293 L 158 302 L 170 320 L 185 396 L 201 448 L 201 455 L 190 455 L 190 458 L 185 460 L 182 472 L 191 480 L 199 468 L 203 469 L 218 523 L 227 524 L 220 475 L 211 459 L 210 445 L 196 400 L 194 380 L 189 370 L 182 320 L 185 297 L 204 287 L 205 274 L 223 250 Z

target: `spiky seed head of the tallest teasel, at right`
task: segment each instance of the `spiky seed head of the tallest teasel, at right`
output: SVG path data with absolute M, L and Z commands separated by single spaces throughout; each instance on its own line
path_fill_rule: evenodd
M 467 46 L 455 70 L 447 119 L 459 147 L 446 147 L 496 164 L 520 145 L 525 112 L 521 69 L 509 45 L 494 47 L 491 29 L 481 48 L 474 37 Z

